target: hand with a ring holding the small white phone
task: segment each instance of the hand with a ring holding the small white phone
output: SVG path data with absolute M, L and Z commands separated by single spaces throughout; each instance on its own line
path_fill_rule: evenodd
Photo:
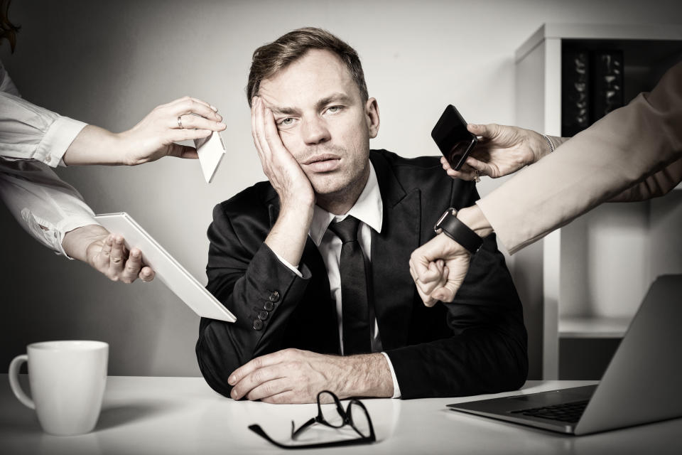
M 180 117 L 183 128 L 178 125 Z M 197 158 L 192 146 L 176 141 L 201 139 L 214 131 L 222 131 L 222 117 L 207 102 L 183 97 L 155 107 L 128 131 L 112 133 L 87 125 L 64 154 L 65 164 L 126 164 L 134 166 L 156 161 L 163 156 Z

